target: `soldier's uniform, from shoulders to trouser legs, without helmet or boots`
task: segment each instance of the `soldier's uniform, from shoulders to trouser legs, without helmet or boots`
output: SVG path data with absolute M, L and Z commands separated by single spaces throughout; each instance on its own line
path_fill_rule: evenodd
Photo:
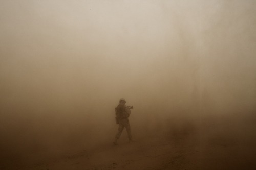
M 126 105 L 119 104 L 116 109 L 117 109 L 116 116 L 119 124 L 118 132 L 116 134 L 116 139 L 120 137 L 123 131 L 123 128 L 125 128 L 127 131 L 129 140 L 132 140 L 131 126 L 128 119 L 128 117 L 131 114 L 130 108 L 127 107 Z

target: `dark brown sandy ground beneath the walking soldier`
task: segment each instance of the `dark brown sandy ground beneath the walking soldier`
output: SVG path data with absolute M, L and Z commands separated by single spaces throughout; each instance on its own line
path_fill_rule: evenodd
M 2 166 L 1 169 L 256 169 L 254 142 L 200 134 L 125 137 L 77 153 Z

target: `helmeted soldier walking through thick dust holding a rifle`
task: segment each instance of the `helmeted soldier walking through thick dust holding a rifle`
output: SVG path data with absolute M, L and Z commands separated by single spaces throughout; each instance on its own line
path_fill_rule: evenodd
M 119 124 L 119 127 L 118 127 L 118 132 L 116 134 L 115 141 L 114 141 L 115 145 L 117 145 L 117 139 L 119 139 L 123 131 L 123 128 L 125 128 L 127 131 L 129 141 L 130 142 L 133 141 L 132 134 L 131 134 L 131 127 L 128 119 L 128 117 L 131 114 L 130 109 L 133 109 L 133 106 L 126 106 L 125 103 L 126 103 L 125 99 L 121 98 L 119 100 L 118 106 L 116 107 L 116 123 Z

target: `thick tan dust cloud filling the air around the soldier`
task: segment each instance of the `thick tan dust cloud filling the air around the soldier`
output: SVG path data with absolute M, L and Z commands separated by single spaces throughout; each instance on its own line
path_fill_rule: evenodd
M 0 6 L 2 160 L 111 143 L 119 98 L 135 139 L 255 140 L 255 1 Z

